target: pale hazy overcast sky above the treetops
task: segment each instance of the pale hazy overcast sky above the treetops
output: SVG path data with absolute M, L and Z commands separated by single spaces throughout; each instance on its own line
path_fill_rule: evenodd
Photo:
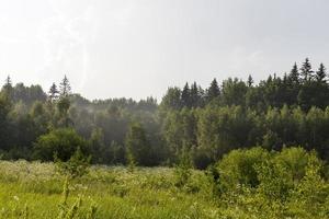
M 0 0 L 0 82 L 88 99 L 329 67 L 328 0 Z

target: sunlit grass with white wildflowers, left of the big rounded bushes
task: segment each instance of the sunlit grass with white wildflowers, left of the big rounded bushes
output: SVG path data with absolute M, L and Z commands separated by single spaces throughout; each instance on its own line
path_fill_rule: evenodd
M 81 198 L 75 218 L 216 218 L 217 206 L 207 180 L 194 171 L 191 185 L 174 186 L 172 169 L 92 166 L 69 184 L 68 207 Z M 194 178 L 194 180 L 193 180 Z M 63 203 L 65 177 L 52 163 L 0 162 L 0 218 L 57 218 Z M 193 185 L 192 185 L 193 184 Z

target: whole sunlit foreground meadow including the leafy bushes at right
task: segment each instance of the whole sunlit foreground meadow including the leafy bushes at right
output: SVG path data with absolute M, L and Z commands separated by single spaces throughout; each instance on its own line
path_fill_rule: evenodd
M 300 148 L 235 150 L 206 171 L 56 166 L 1 161 L 0 218 L 329 218 L 328 166 Z

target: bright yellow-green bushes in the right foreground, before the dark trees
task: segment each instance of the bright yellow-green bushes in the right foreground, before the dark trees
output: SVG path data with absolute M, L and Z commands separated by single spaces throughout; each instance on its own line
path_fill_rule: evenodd
M 254 148 L 231 151 L 208 175 L 215 178 L 220 205 L 231 209 L 223 217 L 327 218 L 329 189 L 322 172 L 315 152 Z

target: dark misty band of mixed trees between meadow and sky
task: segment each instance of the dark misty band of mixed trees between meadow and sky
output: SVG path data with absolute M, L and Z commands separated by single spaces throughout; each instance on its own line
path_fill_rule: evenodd
M 326 67 L 309 59 L 282 77 L 254 83 L 214 79 L 169 88 L 158 104 L 109 99 L 89 101 L 71 92 L 67 77 L 46 93 L 12 84 L 0 93 L 2 159 L 67 160 L 79 148 L 93 163 L 171 165 L 188 158 L 206 168 L 232 149 L 280 151 L 300 146 L 329 159 L 329 84 Z

